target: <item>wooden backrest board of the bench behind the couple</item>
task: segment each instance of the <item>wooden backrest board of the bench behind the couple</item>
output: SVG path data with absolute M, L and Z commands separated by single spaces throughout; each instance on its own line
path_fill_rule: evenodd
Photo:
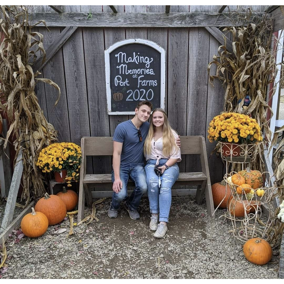
M 202 138 L 203 136 L 180 136 L 181 154 L 200 154 Z M 81 148 L 84 156 L 112 156 L 112 137 L 82 137 Z

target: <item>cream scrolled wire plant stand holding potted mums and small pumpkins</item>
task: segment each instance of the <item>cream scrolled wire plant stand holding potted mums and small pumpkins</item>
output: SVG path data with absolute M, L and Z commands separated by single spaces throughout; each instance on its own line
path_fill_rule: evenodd
M 277 187 L 269 187 L 269 185 L 271 185 L 270 180 L 272 176 L 270 176 L 269 172 L 263 172 L 261 174 L 264 180 L 264 184 L 262 184 L 263 187 L 259 187 L 257 189 L 244 188 L 241 193 L 240 189 L 238 189 L 238 193 L 238 185 L 227 181 L 229 177 L 237 172 L 228 173 L 228 166 L 229 163 L 242 164 L 242 169 L 245 164 L 248 164 L 245 167 L 249 166 L 250 162 L 254 162 L 256 159 L 262 143 L 263 142 L 239 145 L 219 141 L 217 144 L 219 145 L 221 158 L 226 162 L 226 174 L 224 176 L 226 194 L 220 204 L 230 194 L 227 201 L 227 212 L 225 212 L 225 214 L 221 217 L 231 220 L 233 228 L 230 232 L 232 232 L 237 239 L 243 242 L 254 237 L 260 237 L 265 240 L 268 239 L 267 231 L 271 225 L 270 217 L 273 216 L 274 212 L 271 200 L 277 191 Z M 258 190 L 263 190 L 264 194 L 262 196 L 258 196 L 256 194 L 256 191 Z M 251 195 L 247 195 L 245 191 L 251 191 Z M 219 208 L 220 204 L 216 207 L 214 213 Z M 270 215 L 268 216 L 267 221 L 261 220 L 262 210 L 260 206 L 262 204 L 266 204 L 269 208 Z M 238 213 L 236 214 L 236 212 Z

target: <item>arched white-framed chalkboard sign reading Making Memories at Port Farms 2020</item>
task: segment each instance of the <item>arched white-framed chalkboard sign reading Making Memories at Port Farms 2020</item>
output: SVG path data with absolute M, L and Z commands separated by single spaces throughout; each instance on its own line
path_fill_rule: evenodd
M 165 51 L 146 39 L 125 39 L 105 51 L 108 114 L 135 114 L 140 101 L 164 108 Z

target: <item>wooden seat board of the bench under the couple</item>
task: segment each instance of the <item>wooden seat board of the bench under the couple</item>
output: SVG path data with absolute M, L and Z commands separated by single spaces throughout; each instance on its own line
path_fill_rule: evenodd
M 207 177 L 202 172 L 179 173 L 177 181 L 206 180 Z M 131 179 L 130 179 L 131 181 Z M 111 183 L 111 174 L 85 175 L 83 183 Z

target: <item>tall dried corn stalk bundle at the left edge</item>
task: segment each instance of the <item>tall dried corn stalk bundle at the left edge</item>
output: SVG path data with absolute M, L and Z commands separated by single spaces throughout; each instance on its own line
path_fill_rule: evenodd
M 39 106 L 35 85 L 37 80 L 44 80 L 58 89 L 59 97 L 60 88 L 51 80 L 37 78 L 40 73 L 32 70 L 30 62 L 36 60 L 34 50 L 42 54 L 45 50 L 43 35 L 32 32 L 34 26 L 28 24 L 28 8 L 1 6 L 0 13 L 1 33 L 5 36 L 0 45 L 0 93 L 4 102 L 0 108 L 8 114 L 10 122 L 4 147 L 9 137 L 13 137 L 15 161 L 20 148 L 23 149 L 22 199 L 27 205 L 31 197 L 38 199 L 45 193 L 44 178 L 35 165 L 36 156 L 43 147 L 57 140 L 57 131 L 47 122 Z

